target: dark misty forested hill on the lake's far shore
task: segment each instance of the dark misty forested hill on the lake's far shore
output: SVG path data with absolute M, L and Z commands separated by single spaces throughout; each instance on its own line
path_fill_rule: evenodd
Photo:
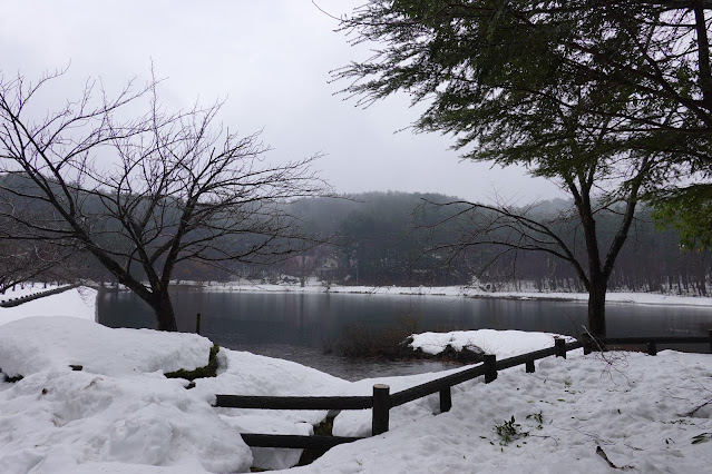
M 312 198 L 293 203 L 292 210 L 313 230 L 337 235 L 337 245 L 312 249 L 286 270 L 316 274 L 340 284 L 459 285 L 477 278 L 495 288 L 583 290 L 570 267 L 540 251 L 507 251 L 484 245 L 476 236 L 486 217 L 465 213 L 465 204 L 447 207 L 430 203 L 458 199 L 433 194 L 365 192 L 351 199 Z M 568 219 L 573 205 L 563 199 L 517 209 L 558 226 L 570 247 L 585 258 L 581 231 Z M 601 213 L 597 227 L 612 238 L 620 216 Z M 435 226 L 435 223 L 447 220 Z M 504 231 L 504 230 L 503 230 Z M 481 240 L 481 239 L 480 239 Z M 478 245 L 458 245 L 458 244 Z M 602 243 L 604 244 L 604 243 Z M 602 246 L 603 247 L 603 246 Z M 453 251 L 456 249 L 457 251 Z M 650 209 L 636 214 L 631 235 L 616 261 L 609 289 L 706 294 L 710 278 L 706 251 L 685 251 L 674 230 L 657 229 Z

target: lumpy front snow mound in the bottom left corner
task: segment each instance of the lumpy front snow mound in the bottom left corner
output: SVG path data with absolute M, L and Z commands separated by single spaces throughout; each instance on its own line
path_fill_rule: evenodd
M 245 471 L 252 464 L 240 432 L 179 381 L 52 369 L 3 388 L 3 473 L 72 472 L 87 462 L 126 463 L 134 472 L 140 465 L 177 466 L 186 473 Z

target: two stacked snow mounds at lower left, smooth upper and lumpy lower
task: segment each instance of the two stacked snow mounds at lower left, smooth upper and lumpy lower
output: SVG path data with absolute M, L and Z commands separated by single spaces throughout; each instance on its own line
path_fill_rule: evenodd
M 74 472 L 86 463 L 94 463 L 89 472 L 107 463 L 131 464 L 133 472 L 246 470 L 252 454 L 240 431 L 185 381 L 163 375 L 206 365 L 211 347 L 192 334 L 72 317 L 0 326 L 0 367 L 25 376 L 0 383 L 0 472 Z

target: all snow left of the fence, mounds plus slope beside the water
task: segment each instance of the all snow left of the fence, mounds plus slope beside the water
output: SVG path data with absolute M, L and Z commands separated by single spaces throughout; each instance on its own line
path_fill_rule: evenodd
M 251 451 L 240 433 L 311 434 L 326 412 L 215 409 L 214 395 L 335 395 L 349 383 L 227 349 L 218 353 L 218 376 L 196 381 L 193 389 L 164 377 L 206 365 L 211 347 L 194 334 L 111 329 L 61 316 L 0 326 L 0 367 L 25 376 L 0 382 L 0 472 L 240 472 L 296 464 L 301 450 Z

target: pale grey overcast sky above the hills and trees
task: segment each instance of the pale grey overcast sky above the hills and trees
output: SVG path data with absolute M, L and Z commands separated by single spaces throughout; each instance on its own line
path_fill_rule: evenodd
M 339 17 L 362 0 L 316 0 Z M 452 139 L 406 130 L 417 110 L 403 97 L 368 109 L 334 96 L 330 71 L 363 59 L 311 0 L 7 1 L 0 16 L 0 68 L 36 78 L 70 69 L 62 93 L 87 77 L 121 85 L 156 73 L 175 108 L 226 99 L 221 119 L 245 135 L 263 130 L 273 162 L 318 152 L 322 176 L 340 192 L 435 191 L 469 200 L 495 194 L 525 204 L 562 197 L 523 168 L 461 161 Z

